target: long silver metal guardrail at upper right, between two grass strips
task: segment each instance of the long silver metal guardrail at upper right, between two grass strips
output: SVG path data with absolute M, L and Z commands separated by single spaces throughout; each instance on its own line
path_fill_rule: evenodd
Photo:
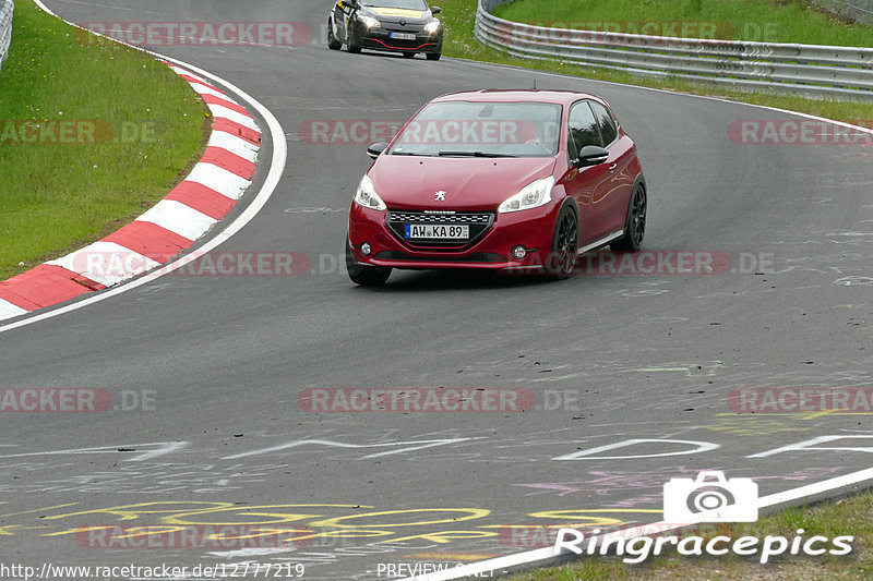
M 675 76 L 742 89 L 873 101 L 873 49 L 672 38 L 546 28 L 491 14 L 479 0 L 476 38 L 527 59 L 558 59 L 634 74 Z

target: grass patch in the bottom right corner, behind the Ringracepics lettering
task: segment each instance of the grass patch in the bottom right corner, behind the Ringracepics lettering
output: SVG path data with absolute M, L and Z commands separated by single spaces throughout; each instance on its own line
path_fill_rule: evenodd
M 551 569 L 523 572 L 503 577 L 511 581 L 666 581 L 721 580 L 776 581 L 803 579 L 808 581 L 869 580 L 873 579 L 873 494 L 859 494 L 846 499 L 824 503 L 812 508 L 799 507 L 762 518 L 754 523 L 702 525 L 696 535 L 711 538 L 726 535 L 740 536 L 767 535 L 785 536 L 789 541 L 803 529 L 804 540 L 823 535 L 833 540 L 836 536 L 852 535 L 852 552 L 844 557 L 830 555 L 780 556 L 766 565 L 758 562 L 760 555 L 740 557 L 732 553 L 723 557 L 685 557 L 678 555 L 675 548 L 667 548 L 659 557 L 649 557 L 639 565 L 625 564 L 621 557 L 584 557 L 578 564 L 569 564 Z

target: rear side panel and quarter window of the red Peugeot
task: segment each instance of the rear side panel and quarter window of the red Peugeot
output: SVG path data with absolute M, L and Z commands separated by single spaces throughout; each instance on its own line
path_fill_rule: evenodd
M 633 142 L 621 135 L 615 119 L 602 104 L 593 100 L 589 105 L 603 146 L 609 150 L 608 181 L 596 190 L 591 199 L 591 204 L 600 208 L 600 216 L 607 225 L 605 235 L 608 235 L 623 229 L 627 219 L 627 205 L 636 178 L 630 167 L 634 157 Z

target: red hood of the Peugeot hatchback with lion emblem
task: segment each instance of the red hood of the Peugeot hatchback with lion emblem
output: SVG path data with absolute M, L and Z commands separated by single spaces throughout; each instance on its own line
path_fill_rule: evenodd
M 368 174 L 390 209 L 497 210 L 554 171 L 552 157 L 458 158 L 382 155 Z M 438 196 L 445 192 L 445 201 Z

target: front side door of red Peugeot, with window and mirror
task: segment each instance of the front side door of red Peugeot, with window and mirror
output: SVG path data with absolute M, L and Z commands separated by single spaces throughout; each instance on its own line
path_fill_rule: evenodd
M 601 240 L 609 232 L 610 223 L 605 215 L 605 205 L 599 203 L 609 187 L 609 164 L 578 168 L 575 161 L 586 145 L 603 146 L 600 126 L 588 100 L 581 100 L 570 109 L 567 118 L 569 168 L 561 183 L 576 201 L 579 210 L 579 249 Z

